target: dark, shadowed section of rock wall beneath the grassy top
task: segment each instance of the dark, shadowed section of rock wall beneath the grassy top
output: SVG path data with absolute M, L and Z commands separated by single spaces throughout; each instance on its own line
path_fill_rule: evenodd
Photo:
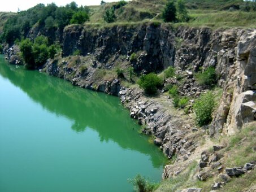
M 120 55 L 138 53 L 132 65 L 137 72 L 153 72 L 173 65 L 175 58 L 175 34 L 159 26 L 115 26 L 104 29 L 81 28 L 73 25 L 64 30 L 63 55 L 75 50 L 81 54 L 95 55 L 104 66 L 115 62 Z M 114 56 L 114 60 L 112 57 Z

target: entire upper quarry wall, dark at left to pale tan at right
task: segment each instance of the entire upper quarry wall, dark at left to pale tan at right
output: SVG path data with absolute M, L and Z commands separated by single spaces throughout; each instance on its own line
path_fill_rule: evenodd
M 110 69 L 115 66 L 116 58 L 125 55 L 129 61 L 129 56 L 136 53 L 137 58 L 131 65 L 137 73 L 161 71 L 168 66 L 188 69 L 188 82 L 179 92 L 193 97 L 198 97 L 203 90 L 194 81 L 193 72 L 200 67 L 215 67 L 218 84 L 224 89 L 210 126 L 211 136 L 218 136 L 220 133 L 233 134 L 255 120 L 252 103 L 255 101 L 247 103 L 241 99 L 241 94 L 254 91 L 256 86 L 255 42 L 253 29 L 212 31 L 180 27 L 170 30 L 164 25 L 153 24 L 92 29 L 72 25 L 64 30 L 63 54 L 70 55 L 79 49 L 83 55 L 94 55 L 96 63 Z M 242 115 L 244 112 L 246 117 Z

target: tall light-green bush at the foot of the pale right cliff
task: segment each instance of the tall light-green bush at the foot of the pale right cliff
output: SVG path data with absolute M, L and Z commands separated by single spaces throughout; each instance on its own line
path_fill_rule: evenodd
M 199 126 L 207 125 L 211 122 L 214 107 L 214 94 L 212 94 L 211 91 L 202 94 L 201 97 L 196 100 L 193 108 L 196 112 L 196 120 Z

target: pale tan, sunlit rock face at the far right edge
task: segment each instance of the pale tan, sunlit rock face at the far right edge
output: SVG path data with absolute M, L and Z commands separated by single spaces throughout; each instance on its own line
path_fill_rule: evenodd
M 232 30 L 223 34 L 225 38 L 222 45 L 227 48 L 219 51 L 222 59 L 219 59 L 218 66 L 225 65 L 224 58 L 231 66 L 229 72 L 225 73 L 225 91 L 210 126 L 212 136 L 218 136 L 219 133 L 234 134 L 255 120 L 256 30 Z M 228 45 L 231 40 L 231 45 Z

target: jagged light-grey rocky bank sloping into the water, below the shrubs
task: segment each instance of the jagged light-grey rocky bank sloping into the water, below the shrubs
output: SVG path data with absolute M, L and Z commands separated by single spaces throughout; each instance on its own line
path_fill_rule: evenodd
M 195 143 L 186 136 L 192 132 L 177 115 L 170 115 L 163 104 L 147 99 L 139 89 L 121 89 L 121 102 L 130 110 L 130 116 L 143 126 L 142 132 L 155 137 L 154 143 L 160 146 L 168 158 L 175 154 L 190 155 Z M 169 103 L 168 103 L 169 102 Z M 171 100 L 167 101 L 171 105 Z

